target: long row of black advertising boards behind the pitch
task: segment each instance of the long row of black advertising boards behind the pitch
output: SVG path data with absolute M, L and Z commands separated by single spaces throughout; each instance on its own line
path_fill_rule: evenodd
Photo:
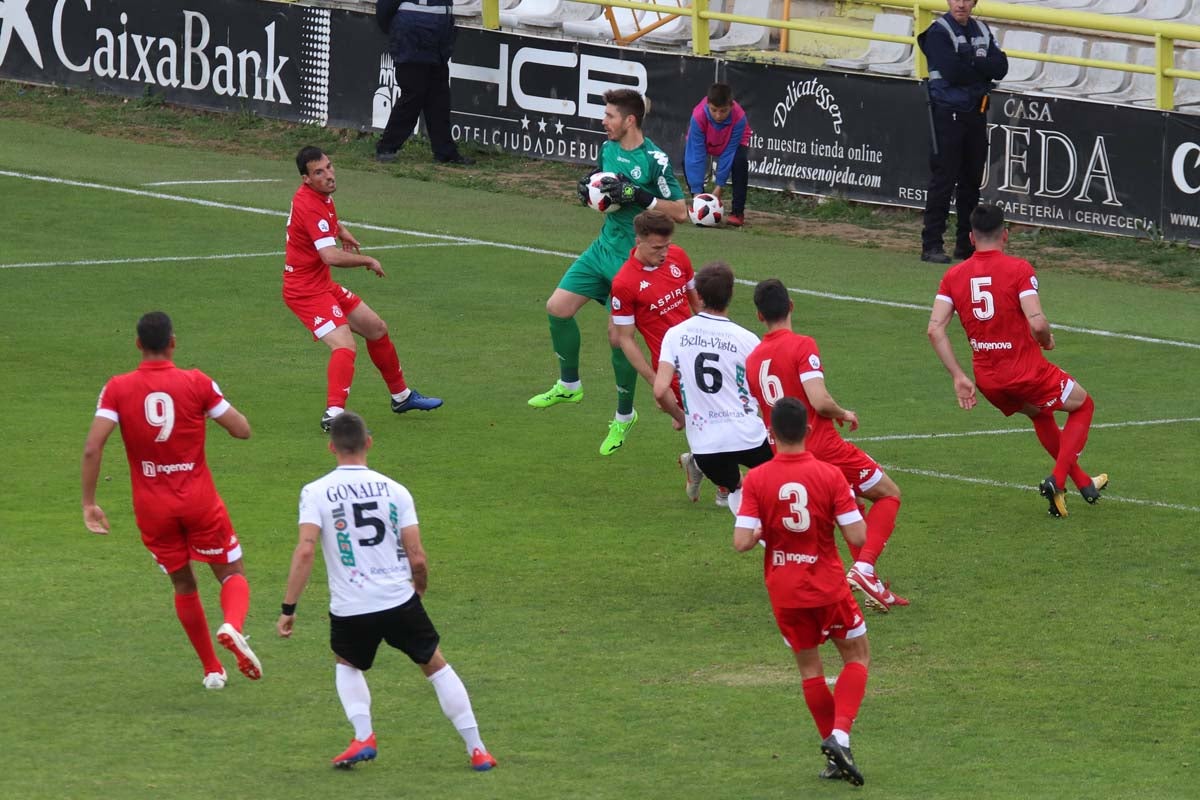
M 595 163 L 604 92 L 652 101 L 646 132 L 682 173 L 692 107 L 728 80 L 754 128 L 750 182 L 923 207 L 924 95 L 911 80 L 727 62 L 460 28 L 460 142 Z M 386 38 L 364 13 L 248 0 L 4 0 L 0 78 L 382 130 Z M 995 92 L 983 196 L 1018 222 L 1200 241 L 1200 118 Z

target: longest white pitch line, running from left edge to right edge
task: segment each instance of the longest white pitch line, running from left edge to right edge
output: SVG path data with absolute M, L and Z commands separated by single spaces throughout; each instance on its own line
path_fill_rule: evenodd
M 148 191 L 144 191 L 144 190 L 127 188 L 127 187 L 124 187 L 124 186 L 108 186 L 106 184 L 92 184 L 92 182 L 89 182 L 89 181 L 74 181 L 74 180 L 68 180 L 68 179 L 65 179 L 65 178 L 50 178 L 48 175 L 32 175 L 30 173 L 16 173 L 16 172 L 11 172 L 11 170 L 7 170 L 7 169 L 0 169 L 0 176 L 19 178 L 22 180 L 38 181 L 38 182 L 43 182 L 43 184 L 58 184 L 60 186 L 76 186 L 76 187 L 79 187 L 79 188 L 95 188 L 95 190 L 101 190 L 101 191 L 104 191 L 104 192 L 116 192 L 116 193 L 120 193 L 120 194 L 133 194 L 136 197 L 149 197 L 149 198 L 154 198 L 154 199 L 157 199 L 157 200 L 173 200 L 175 203 L 188 203 L 188 204 L 192 204 L 192 205 L 202 205 L 202 206 L 210 207 L 210 209 L 223 209 L 223 210 L 227 210 L 227 211 L 244 211 L 246 213 L 258 213 L 258 215 L 271 216 L 271 217 L 284 217 L 284 216 L 287 216 L 286 212 L 283 212 L 283 211 L 276 211 L 274 209 L 259 209 L 259 207 L 254 207 L 254 206 L 250 206 L 250 205 L 236 205 L 236 204 L 233 204 L 233 203 L 218 203 L 216 200 L 204 200 L 204 199 L 200 199 L 200 198 L 186 197 L 186 196 L 181 196 L 181 194 L 167 194 L 164 192 L 148 192 Z M 536 254 L 540 254 L 540 255 L 558 255 L 558 257 L 562 257 L 562 258 L 577 258 L 578 257 L 578 253 L 564 253 L 564 252 L 553 251 L 553 249 L 544 249 L 544 248 L 540 248 L 540 247 L 528 247 L 528 246 L 524 246 L 524 245 L 509 245 L 506 242 L 487 241 L 485 239 L 472 239 L 472 237 L 468 237 L 468 236 L 452 236 L 452 235 L 449 235 L 449 234 L 431 234 L 431 233 L 425 233 L 424 230 L 407 230 L 404 228 L 392 228 L 392 227 L 389 227 L 389 225 L 374 225 L 374 224 L 370 224 L 370 223 L 365 223 L 365 222 L 349 222 L 349 221 L 346 221 L 346 222 L 347 222 L 347 224 L 350 224 L 354 228 L 362 228 L 364 230 L 378 230 L 378 231 L 382 231 L 382 233 L 404 234 L 407 236 L 418 236 L 418 237 L 422 237 L 422 239 L 440 239 L 440 240 L 446 240 L 446 241 L 461 242 L 463 245 L 482 245 L 482 246 L 486 246 L 486 247 L 499 247 L 499 248 L 503 248 L 503 249 L 514 249 L 514 251 L 518 251 L 518 252 L 522 252 L 522 253 L 536 253 Z M 744 285 L 756 285 L 755 281 L 746 281 L 744 278 L 738 278 L 737 282 L 742 283 Z M 844 294 L 835 294 L 835 293 L 830 293 L 830 291 L 816 291 L 816 290 L 812 290 L 812 289 L 796 289 L 796 288 L 788 287 L 787 290 L 791 291 L 792 294 L 802 294 L 802 295 L 808 295 L 808 296 L 811 296 L 811 297 L 822 297 L 824 300 L 839 300 L 839 301 L 844 301 L 844 302 L 860 302 L 860 303 L 866 303 L 866 305 L 871 305 L 871 306 L 888 306 L 890 308 L 907 308 L 907 309 L 912 309 L 912 311 L 929 311 L 931 308 L 931 306 L 920 306 L 920 305 L 911 303 L 911 302 L 896 302 L 896 301 L 893 301 L 893 300 L 878 300 L 878 299 L 875 299 L 875 297 L 859 297 L 859 296 L 856 296 L 856 295 L 844 295 Z M 1188 349 L 1193 349 L 1193 350 L 1200 350 L 1200 343 L 1196 343 L 1196 342 L 1181 342 L 1181 341 L 1177 341 L 1177 339 L 1163 339 L 1163 338 L 1157 338 L 1157 337 L 1152 337 L 1152 336 L 1140 336 L 1140 335 L 1136 335 L 1136 333 L 1118 333 L 1116 331 L 1104 331 L 1104 330 L 1098 330 L 1098 329 L 1093 329 L 1093 327 L 1076 327 L 1076 326 L 1072 326 L 1072 325 L 1055 325 L 1055 327 L 1057 330 L 1061 330 L 1061 331 L 1072 331 L 1074 333 L 1091 333 L 1092 336 L 1106 336 L 1106 337 L 1111 337 L 1111 338 L 1129 339 L 1132 342 L 1145 342 L 1147 344 L 1166 344 L 1166 345 L 1170 345 L 1170 347 L 1181 347 L 1181 348 L 1188 348 Z

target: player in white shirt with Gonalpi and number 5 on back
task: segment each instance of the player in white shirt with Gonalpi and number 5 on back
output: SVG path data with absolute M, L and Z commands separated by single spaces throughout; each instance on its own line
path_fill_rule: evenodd
M 428 566 L 413 495 L 367 468 L 370 447 L 361 416 L 347 411 L 332 420 L 330 450 L 337 469 L 300 494 L 300 542 L 292 554 L 276 628 L 280 636 L 292 636 L 296 603 L 319 541 L 329 575 L 329 638 L 337 661 L 337 696 L 354 726 L 354 739 L 334 758 L 334 766 L 349 768 L 378 754 L 365 673 L 386 640 L 433 685 L 442 710 L 467 745 L 472 769 L 490 770 L 496 759 L 479 736 L 467 687 L 443 657 L 440 637 L 421 604 Z

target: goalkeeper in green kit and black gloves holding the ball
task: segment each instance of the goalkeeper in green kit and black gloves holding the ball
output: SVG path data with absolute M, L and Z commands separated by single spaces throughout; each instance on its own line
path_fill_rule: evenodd
M 600 172 L 617 175 L 607 179 L 605 193 L 620 204 L 620 209 L 605 215 L 600 236 L 558 282 L 558 288 L 546 301 L 550 315 L 550 338 L 558 356 L 558 381 L 541 395 L 529 398 L 534 408 L 550 408 L 557 403 L 578 403 L 583 399 L 580 381 L 580 325 L 575 314 L 588 300 L 608 303 L 612 279 L 634 249 L 634 217 L 644 209 L 658 209 L 676 222 L 688 221 L 683 190 L 671 169 L 667 154 L 642 134 L 642 118 L 647 103 L 632 89 L 612 89 L 604 95 L 604 130 L 608 140 L 600 148 Z M 588 179 L 580 180 L 580 199 L 587 205 Z M 634 387 L 637 371 L 614 344 L 612 323 L 608 324 L 612 345 L 612 371 L 617 379 L 617 414 L 608 423 L 608 435 L 600 445 L 600 455 L 608 456 L 625 444 L 625 435 L 637 422 L 634 410 Z

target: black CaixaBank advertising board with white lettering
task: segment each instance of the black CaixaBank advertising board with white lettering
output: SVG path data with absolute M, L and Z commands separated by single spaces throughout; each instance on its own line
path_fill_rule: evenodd
M 5 0 L 0 77 L 324 124 L 330 13 L 239 0 Z

